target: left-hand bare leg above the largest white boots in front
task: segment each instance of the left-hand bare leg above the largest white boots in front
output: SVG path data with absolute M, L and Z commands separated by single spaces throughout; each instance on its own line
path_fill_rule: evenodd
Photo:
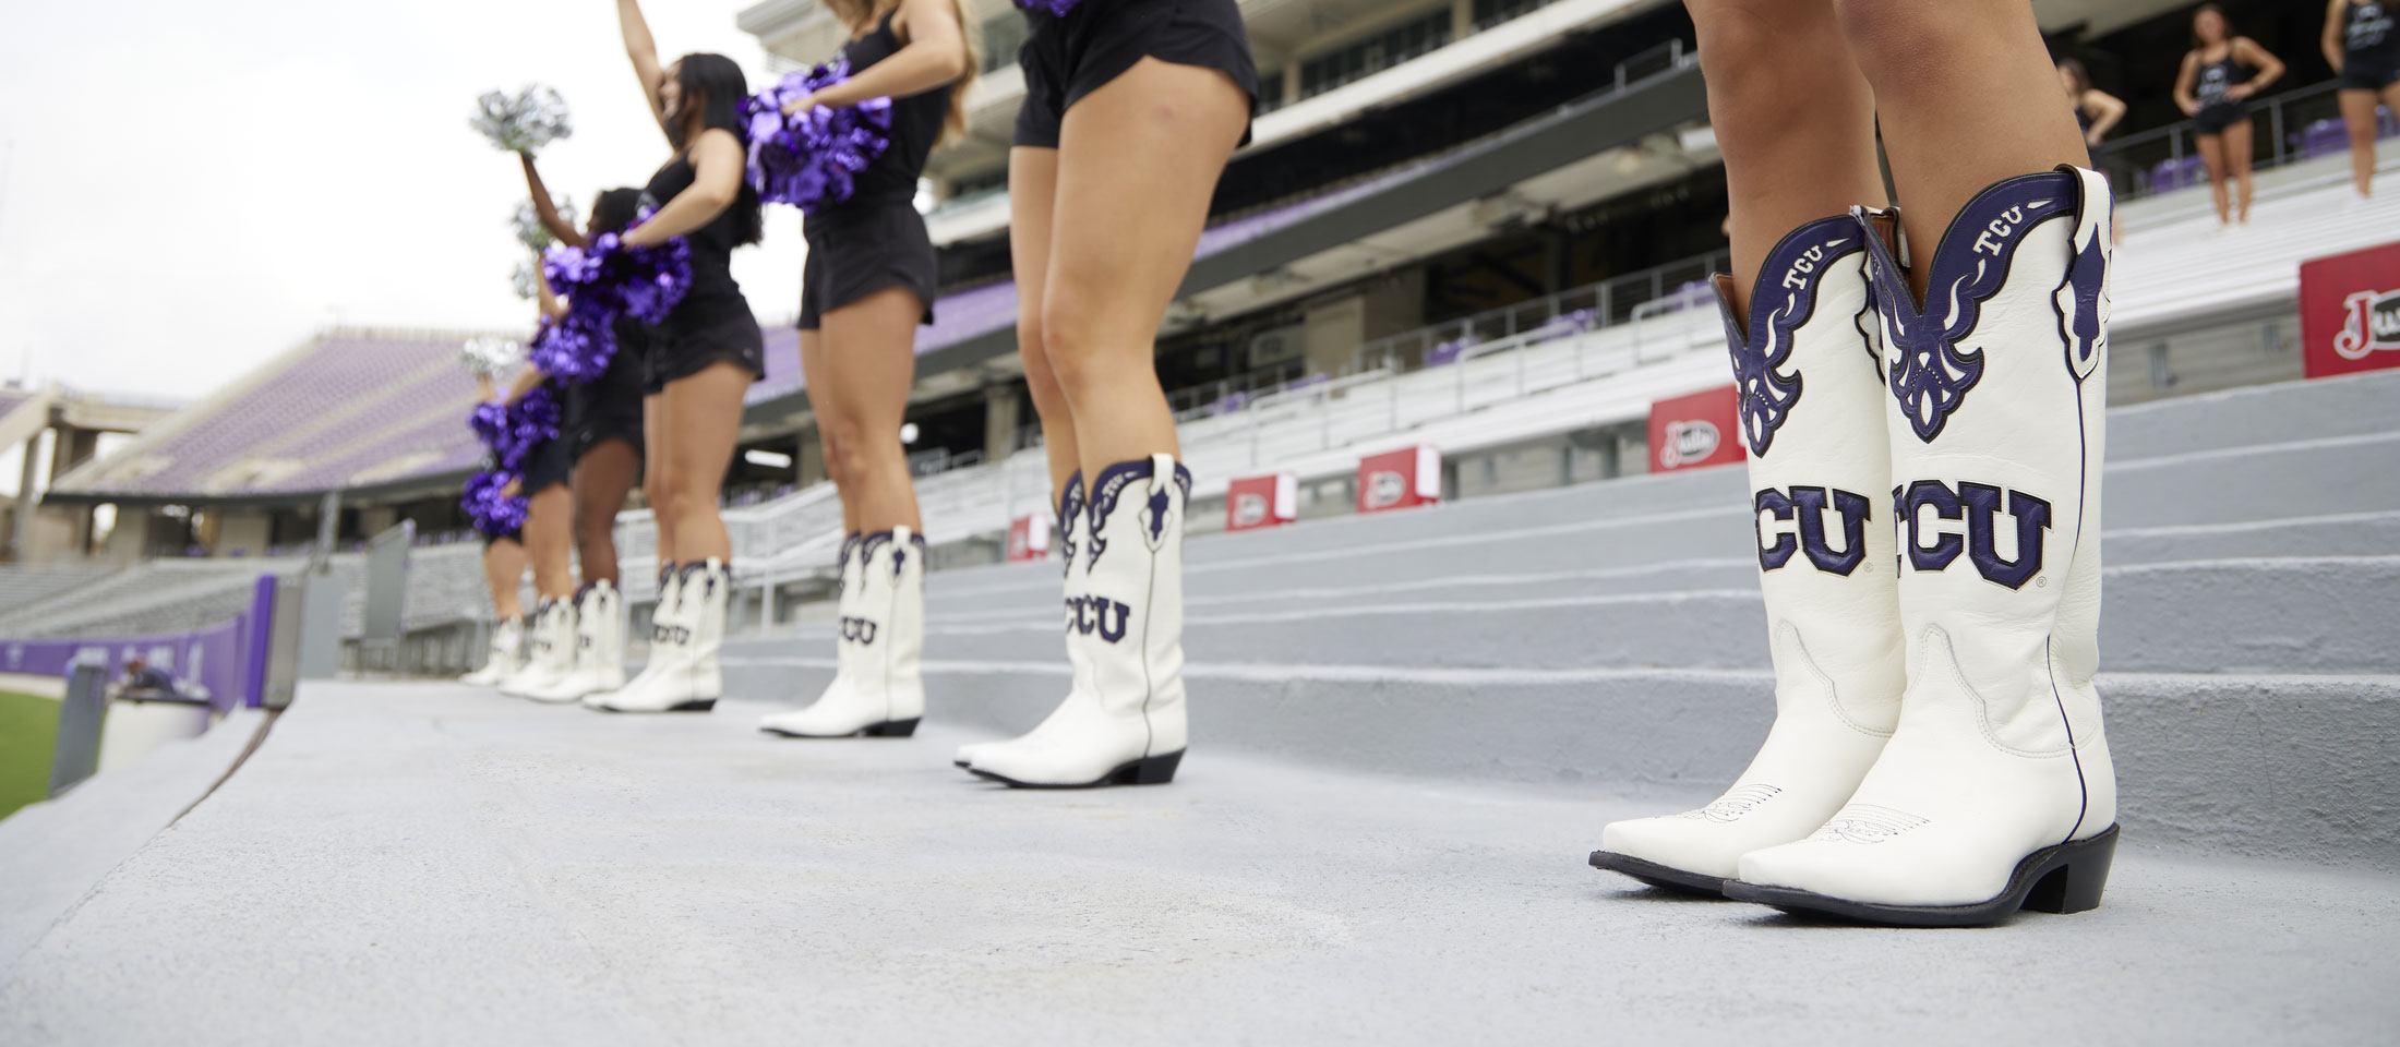
M 1884 207 L 1874 96 L 1850 60 L 1831 0 L 1685 0 L 1709 79 L 1709 120 L 1733 197 L 1733 305 L 1783 233 Z

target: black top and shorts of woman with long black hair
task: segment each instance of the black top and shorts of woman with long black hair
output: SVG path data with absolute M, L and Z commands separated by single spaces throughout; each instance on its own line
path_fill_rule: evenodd
M 667 207 L 691 187 L 694 178 L 698 175 L 691 161 L 677 154 L 650 175 L 650 185 L 641 190 L 643 204 Z M 691 243 L 691 291 L 665 324 L 650 329 L 643 391 L 665 391 L 667 382 L 698 375 L 718 360 L 734 363 L 751 377 L 766 377 L 766 339 L 732 271 L 737 223 L 734 209 L 727 207 L 708 226 L 684 235 Z

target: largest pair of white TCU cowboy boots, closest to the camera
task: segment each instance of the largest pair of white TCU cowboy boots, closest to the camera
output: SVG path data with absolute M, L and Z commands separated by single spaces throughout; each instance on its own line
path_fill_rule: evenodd
M 1716 802 L 1610 824 L 1591 864 L 1889 925 L 2100 903 L 2107 228 L 2107 183 L 2059 168 L 1958 214 L 1922 307 L 1896 211 L 1766 257 L 1726 327 L 1776 723 Z

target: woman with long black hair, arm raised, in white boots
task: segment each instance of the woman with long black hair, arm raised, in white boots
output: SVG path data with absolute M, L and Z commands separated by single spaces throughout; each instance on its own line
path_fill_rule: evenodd
M 742 399 L 766 375 L 766 341 L 734 283 L 734 247 L 758 243 L 758 192 L 744 180 L 749 154 L 739 103 L 742 67 L 725 55 L 658 62 L 658 43 L 636 0 L 617 0 L 626 58 L 650 115 L 674 154 L 643 187 L 658 207 L 624 235 L 626 247 L 691 243 L 691 291 L 650 331 L 643 391 L 650 511 L 665 579 L 650 629 L 650 663 L 622 689 L 583 699 L 610 713 L 715 708 L 722 692 L 718 651 L 732 598 L 732 536 L 718 492 L 734 461 Z M 672 574 L 670 574 L 672 567 Z

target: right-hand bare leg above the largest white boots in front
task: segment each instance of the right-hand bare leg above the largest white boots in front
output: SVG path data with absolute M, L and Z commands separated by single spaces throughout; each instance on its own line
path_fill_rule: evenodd
M 2090 151 L 2026 0 L 1834 0 L 1874 86 L 1918 293 L 1949 221 L 1987 185 Z M 2009 103 L 2021 98 L 2021 103 Z M 2035 101 L 2040 98 L 2040 101 Z M 1975 106 L 1961 118 L 1961 106 Z

